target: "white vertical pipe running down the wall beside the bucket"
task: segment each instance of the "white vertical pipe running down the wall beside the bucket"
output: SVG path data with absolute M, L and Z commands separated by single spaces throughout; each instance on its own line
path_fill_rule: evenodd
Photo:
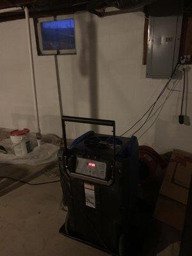
M 28 31 L 29 59 L 30 59 L 30 65 L 31 65 L 31 83 L 33 86 L 33 100 L 34 100 L 35 119 L 36 119 L 36 140 L 37 140 L 38 146 L 40 146 L 41 131 L 40 131 L 40 124 L 39 124 L 39 117 L 38 117 L 38 104 L 37 104 L 37 98 L 36 98 L 35 70 L 34 70 L 34 62 L 33 62 L 31 29 L 30 29 L 30 22 L 29 22 L 29 10 L 28 10 L 27 6 L 24 8 L 24 11 L 25 11 L 25 15 L 26 15 L 26 26 L 27 26 L 27 31 Z

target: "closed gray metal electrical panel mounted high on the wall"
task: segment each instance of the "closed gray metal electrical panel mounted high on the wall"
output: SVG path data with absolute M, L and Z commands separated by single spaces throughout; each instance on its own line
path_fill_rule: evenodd
M 147 77 L 169 78 L 179 60 L 182 16 L 149 17 Z

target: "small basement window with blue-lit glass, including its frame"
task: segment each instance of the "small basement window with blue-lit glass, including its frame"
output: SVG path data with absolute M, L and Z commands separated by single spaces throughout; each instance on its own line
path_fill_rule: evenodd
M 76 54 L 73 17 L 34 19 L 34 25 L 38 55 Z

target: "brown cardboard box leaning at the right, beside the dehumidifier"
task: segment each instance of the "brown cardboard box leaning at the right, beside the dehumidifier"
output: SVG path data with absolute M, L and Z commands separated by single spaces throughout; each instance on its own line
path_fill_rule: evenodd
M 182 230 L 186 215 L 189 185 L 192 174 L 192 154 L 173 150 L 160 195 L 157 200 L 154 218 Z

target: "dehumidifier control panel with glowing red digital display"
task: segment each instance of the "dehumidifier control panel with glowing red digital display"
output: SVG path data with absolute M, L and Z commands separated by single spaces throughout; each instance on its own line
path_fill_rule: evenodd
M 76 173 L 104 180 L 106 170 L 107 164 L 104 162 L 77 157 Z

